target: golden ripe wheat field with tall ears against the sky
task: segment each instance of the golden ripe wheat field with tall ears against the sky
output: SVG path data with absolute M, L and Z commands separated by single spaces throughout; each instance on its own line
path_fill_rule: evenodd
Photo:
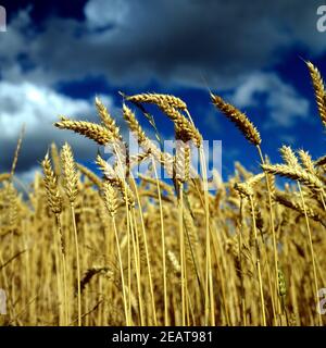
M 326 126 L 324 83 L 312 63 L 308 69 Z M 325 324 L 326 157 L 283 146 L 283 163 L 271 163 L 248 116 L 211 94 L 208 107 L 239 128 L 260 165 L 256 174 L 236 162 L 226 182 L 217 171 L 209 181 L 203 139 L 183 100 L 122 97 L 124 120 L 141 148 L 136 156 L 97 98 L 98 124 L 61 116 L 54 126 L 111 147 L 113 164 L 101 151 L 89 159 L 101 175 L 78 164 L 68 144 L 52 144 L 40 160 L 42 174 L 23 192 L 15 176 L 23 136 L 11 172 L 0 174 L 0 287 L 7 300 L 0 323 Z M 138 123 L 147 104 L 173 122 L 174 156 Z M 146 161 L 148 170 L 135 177 L 133 167 Z M 171 179 L 161 178 L 159 167 Z M 279 176 L 285 184 L 277 184 Z

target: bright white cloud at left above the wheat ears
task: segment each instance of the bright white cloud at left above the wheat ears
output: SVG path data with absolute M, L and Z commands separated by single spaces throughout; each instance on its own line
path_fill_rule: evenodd
M 103 96 L 100 98 L 115 114 L 112 99 Z M 26 134 L 18 158 L 18 172 L 33 170 L 36 161 L 43 158 L 52 141 L 58 145 L 68 141 L 79 160 L 95 159 L 97 146 L 91 140 L 53 126 L 59 114 L 98 122 L 92 100 L 72 99 L 51 88 L 27 82 L 0 82 L 0 148 L 5 149 L 1 153 L 1 170 L 5 171 L 11 166 L 17 135 L 23 124 L 26 125 Z

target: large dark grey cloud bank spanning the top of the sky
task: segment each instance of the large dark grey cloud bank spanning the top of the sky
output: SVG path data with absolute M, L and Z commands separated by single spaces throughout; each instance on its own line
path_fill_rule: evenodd
M 84 22 L 52 16 L 32 33 L 24 13 L 9 24 L 12 34 L 0 38 L 1 47 L 11 48 L 0 53 L 1 74 L 18 78 L 22 66 L 8 62 L 25 53 L 32 69 L 23 73 L 35 83 L 104 74 L 115 85 L 156 79 L 202 86 L 204 76 L 211 87 L 233 88 L 293 48 L 323 53 L 318 5 L 316 0 L 89 0 Z

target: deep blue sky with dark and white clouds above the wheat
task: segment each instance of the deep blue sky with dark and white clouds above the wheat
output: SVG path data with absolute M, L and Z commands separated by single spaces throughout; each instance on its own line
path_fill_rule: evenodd
M 52 123 L 58 114 L 96 121 L 96 95 L 121 120 L 118 90 L 181 97 L 203 137 L 223 141 L 224 178 L 234 161 L 256 169 L 258 156 L 214 110 L 208 87 L 246 111 L 274 162 L 281 144 L 313 157 L 325 153 L 325 133 L 302 60 L 311 60 L 326 76 L 326 32 L 316 28 L 317 8 L 325 1 L 0 4 L 8 15 L 7 32 L 0 33 L 1 171 L 11 165 L 23 123 L 26 136 L 17 166 L 23 179 L 33 175 L 52 140 L 70 141 L 82 162 L 93 159 L 97 147 L 90 140 Z M 171 138 L 166 117 L 151 110 L 161 135 Z

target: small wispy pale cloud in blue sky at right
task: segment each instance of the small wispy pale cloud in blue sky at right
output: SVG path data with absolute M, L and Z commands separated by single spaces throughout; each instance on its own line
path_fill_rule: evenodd
M 230 99 L 241 109 L 265 107 L 265 128 L 289 128 L 298 120 L 309 121 L 309 101 L 274 73 L 252 74 L 236 88 Z

